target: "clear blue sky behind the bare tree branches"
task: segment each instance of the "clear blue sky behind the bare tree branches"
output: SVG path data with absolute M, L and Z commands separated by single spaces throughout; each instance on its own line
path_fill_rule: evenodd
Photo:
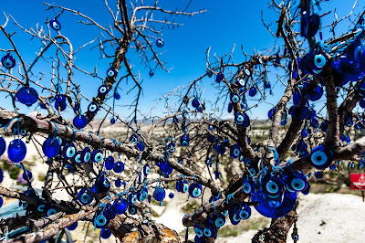
M 110 1 L 110 6 L 116 1 Z M 145 1 L 147 3 L 149 1 Z M 152 1 L 150 1 L 152 2 Z M 154 2 L 154 1 L 153 1 Z M 186 5 L 188 0 L 183 1 L 159 1 L 159 3 L 167 9 L 175 9 L 176 4 L 180 6 Z M 346 16 L 353 1 L 333 0 L 328 3 L 322 4 L 322 10 L 319 13 L 325 13 L 327 11 L 333 11 L 334 7 L 338 7 L 338 16 Z M 355 13 L 359 13 L 364 9 L 364 3 L 360 1 L 360 6 Z M 63 5 L 69 8 L 79 10 L 88 16 L 91 16 L 97 20 L 100 24 L 107 26 L 112 23 L 110 20 L 110 14 L 104 5 L 103 0 L 89 0 L 89 1 L 71 1 L 71 0 L 54 0 L 48 3 L 55 5 Z M 253 4 L 254 3 L 254 4 Z M 16 21 L 29 28 L 36 26 L 38 23 L 41 26 L 46 27 L 46 20 L 53 18 L 55 14 L 53 11 L 45 11 L 46 6 L 43 5 L 43 1 L 5 1 L 2 3 L 2 11 L 10 14 L 16 18 Z M 270 33 L 261 23 L 261 11 L 264 11 L 264 17 L 268 23 L 275 22 L 278 19 L 278 13 L 267 9 L 267 1 L 218 1 L 218 0 L 195 0 L 193 1 L 190 9 L 202 9 L 206 8 L 207 13 L 194 17 L 178 17 L 174 18 L 177 22 L 183 23 L 184 26 L 167 29 L 165 28 L 163 33 L 163 39 L 165 46 L 162 50 L 166 52 L 162 55 L 162 59 L 167 63 L 167 68 L 172 68 L 170 73 L 166 73 L 163 70 L 157 70 L 155 75 L 150 78 L 148 73 L 149 69 L 144 69 L 140 65 L 138 57 L 130 51 L 128 57 L 135 65 L 133 70 L 141 70 L 141 79 L 143 81 L 143 97 L 141 100 L 141 111 L 150 111 L 151 104 L 154 100 L 158 99 L 162 94 L 173 90 L 177 86 L 186 85 L 203 75 L 205 72 L 205 56 L 204 50 L 211 47 L 211 54 L 214 53 L 219 57 L 228 53 L 236 45 L 235 61 L 243 61 L 244 57 L 240 53 L 240 46 L 243 45 L 245 51 L 249 54 L 255 50 L 265 50 L 274 47 L 275 44 L 280 44 L 281 40 L 276 43 L 276 39 L 271 36 Z M 333 13 L 333 12 L 332 12 Z M 322 19 L 323 25 L 331 23 L 333 15 L 326 16 Z M 61 33 L 71 40 L 74 48 L 78 48 L 83 43 L 92 40 L 99 35 L 99 30 L 94 26 L 79 25 L 77 21 L 80 18 L 72 16 L 69 13 L 63 14 L 59 21 L 62 24 Z M 0 16 L 2 24 L 5 22 L 5 17 Z M 9 33 L 16 31 L 14 39 L 17 47 L 22 53 L 26 63 L 29 63 L 36 57 L 36 51 L 39 48 L 39 42 L 31 40 L 30 37 L 24 35 L 21 29 L 14 26 L 12 23 L 6 28 Z M 276 31 L 276 23 L 273 24 L 273 29 Z M 339 32 L 344 31 L 343 26 L 339 26 Z M 56 33 L 53 33 L 55 35 Z M 339 33 L 338 33 L 339 34 Z M 326 35 L 326 34 L 325 34 Z M 108 69 L 111 59 L 100 59 L 99 52 L 94 49 L 90 50 L 85 48 L 78 53 L 76 64 L 82 68 L 92 71 L 94 66 L 97 65 L 99 73 L 104 73 Z M 0 48 L 11 48 L 8 41 L 4 36 L 0 34 Z M 36 71 L 50 72 L 49 65 L 36 67 Z M 66 77 L 65 77 L 66 78 Z M 74 79 L 81 85 L 81 90 L 87 95 L 88 98 L 92 98 L 96 93 L 101 81 L 99 79 L 92 79 L 85 75 L 76 72 Z M 204 79 L 204 85 L 207 89 L 204 99 L 214 98 L 214 92 L 210 92 L 209 81 Z M 275 83 L 276 80 L 271 80 Z M 46 80 L 43 81 L 46 83 Z M 267 103 L 275 103 L 279 94 L 282 94 L 283 87 L 276 86 L 274 90 L 275 96 L 269 97 Z M 128 88 L 123 89 L 120 94 L 121 100 L 117 104 L 129 103 L 133 99 L 134 93 L 126 96 Z M 4 98 L 4 94 L 0 94 L 0 98 Z M 9 99 L 8 99 L 9 100 Z M 9 100 L 10 101 L 10 100 Z M 110 102 L 111 103 L 111 102 Z M 6 102 L 3 106 L 11 105 L 10 102 Z M 86 110 L 87 102 L 82 103 L 83 111 Z M 18 107 L 24 107 L 19 104 Z M 266 118 L 267 111 L 271 108 L 271 105 L 265 104 L 264 109 L 260 108 L 254 111 L 253 118 L 258 117 L 260 119 Z M 161 113 L 162 105 L 156 109 L 157 113 Z M 33 111 L 34 107 L 30 109 L 22 109 L 23 112 Z M 65 114 L 67 118 L 73 117 L 73 112 L 69 111 Z M 120 113 L 126 112 L 123 108 L 118 108 Z

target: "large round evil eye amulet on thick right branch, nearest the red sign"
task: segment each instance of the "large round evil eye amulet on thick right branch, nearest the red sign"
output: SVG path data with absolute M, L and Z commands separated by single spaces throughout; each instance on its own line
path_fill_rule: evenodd
M 332 164 L 335 155 L 331 149 L 323 145 L 318 145 L 310 153 L 310 164 L 321 170 Z

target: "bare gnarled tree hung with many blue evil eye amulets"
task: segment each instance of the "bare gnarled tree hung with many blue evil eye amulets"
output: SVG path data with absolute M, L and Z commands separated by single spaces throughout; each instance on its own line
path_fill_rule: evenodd
M 163 27 L 180 26 L 174 17 L 195 16 L 205 10 L 188 11 L 191 1 L 176 10 L 165 9 L 158 1 L 146 5 L 144 1 L 126 3 L 120 0 L 112 7 L 107 0 L 104 2 L 112 19 L 110 26 L 100 25 L 82 11 L 50 4 L 45 4 L 47 10 L 54 11 L 57 16 L 47 20 L 47 28 L 27 29 L 8 14 L 5 14 L 5 23 L 0 25 L 12 47 L 0 49 L 5 52 L 0 69 L 0 90 L 13 101 L 13 111 L 0 111 L 0 124 L 4 126 L 5 134 L 18 136 L 14 140 L 17 147 L 21 147 L 23 140 L 39 144 L 37 137 L 45 137 L 41 144 L 43 153 L 39 153 L 47 158 L 48 164 L 42 194 L 38 195 L 32 187 L 31 175 L 22 163 L 24 156 L 16 161 L 18 156 L 11 156 L 14 149 L 8 146 L 8 154 L 24 170 L 28 187 L 26 192 L 20 193 L 0 186 L 0 195 L 19 199 L 26 208 L 26 216 L 0 221 L 3 232 L 26 227 L 26 232 L 8 242 L 39 242 L 54 238 L 61 229 L 74 227 L 78 221 L 89 221 L 102 228 L 102 238 L 108 238 L 111 233 L 121 241 L 183 241 L 184 237 L 176 231 L 152 220 L 146 199 L 152 196 L 162 201 L 164 188 L 175 187 L 179 192 L 186 192 L 188 186 L 192 197 L 201 196 L 202 205 L 183 217 L 183 226 L 194 227 L 198 236 L 202 234 L 196 240 L 214 241 L 219 229 L 215 220 L 228 213 L 231 221 L 235 221 L 242 212 L 249 215 L 248 206 L 262 206 L 255 198 L 259 198 L 258 192 L 263 191 L 268 182 L 275 182 L 274 177 L 279 180 L 276 186 L 283 186 L 271 196 L 295 195 L 295 198 L 289 202 L 289 210 L 278 218 L 273 217 L 270 227 L 260 230 L 253 241 L 286 242 L 289 229 L 297 220 L 297 193 L 306 190 L 308 193 L 309 189 L 307 179 L 303 177 L 300 178 L 306 186 L 301 189 L 290 187 L 288 180 L 299 178 L 297 174 L 308 174 L 314 167 L 324 170 L 338 160 L 361 162 L 365 139 L 350 144 L 340 141 L 340 137 L 343 141 L 349 140 L 342 135 L 344 132 L 364 127 L 362 113 L 354 111 L 365 94 L 365 65 L 361 61 L 365 55 L 365 12 L 356 14 L 357 1 L 348 16 L 338 19 L 335 11 L 333 23 L 320 26 L 320 18 L 330 14 L 317 14 L 316 9 L 323 1 L 316 4 L 281 1 L 278 4 L 270 0 L 269 8 L 278 15 L 277 28 L 275 26 L 276 30 L 273 30 L 273 24 L 266 24 L 264 16 L 263 24 L 282 45 L 254 55 L 241 48 L 245 61 L 238 63 L 233 58 L 235 48 L 223 57 L 211 57 L 208 48 L 205 51 L 206 72 L 160 99 L 166 108 L 164 116 L 153 114 L 153 109 L 141 114 L 141 73 L 133 69 L 128 50 L 135 50 L 141 63 L 151 70 L 151 76 L 156 69 L 169 71 L 156 48 L 163 46 Z M 100 36 L 75 49 L 68 37 L 62 35 L 61 23 L 57 21 L 66 13 L 79 17 L 80 25 L 98 28 Z M 31 62 L 26 62 L 16 48 L 13 34 L 6 31 L 11 22 L 40 41 L 37 57 Z M 337 26 L 341 22 L 349 24 L 349 30 L 337 36 Z M 322 31 L 328 30 L 333 37 L 322 40 Z M 112 59 L 106 78 L 97 68 L 90 71 L 78 67 L 78 51 L 90 46 L 99 50 L 101 58 Z M 49 53 L 51 50 L 53 54 Z M 15 60 L 20 62 L 17 73 Z M 49 66 L 48 73 L 34 73 L 36 65 L 45 63 Z M 89 99 L 81 92 L 74 78 L 78 73 L 103 80 L 97 96 Z M 270 81 L 273 73 L 277 82 Z M 45 80 L 48 75 L 50 82 Z M 216 100 L 203 99 L 202 80 L 209 78 L 214 79 L 214 89 L 218 91 Z M 120 85 L 126 80 L 133 83 L 127 93 L 134 93 L 135 99 L 126 104 L 131 112 L 127 119 L 122 119 L 114 112 L 114 100 L 119 100 Z M 250 119 L 247 114 L 265 102 L 267 95 L 276 93 L 279 89 L 274 88 L 279 86 L 284 88 L 284 93 L 269 111 L 268 139 L 265 143 L 255 143 L 255 138 L 248 135 L 259 121 Z M 66 91 L 61 87 L 66 87 Z M 42 93 L 35 94 L 36 90 L 42 90 Z M 321 98 L 324 91 L 326 97 Z M 294 105 L 289 109 L 292 98 Z M 315 101 L 319 99 L 326 103 L 314 109 L 312 104 L 317 105 Z M 88 111 L 82 112 L 80 103 L 85 100 L 89 107 Z M 249 107 L 246 100 L 255 100 L 255 105 Z M 339 105 L 338 100 L 341 101 Z M 47 116 L 19 114 L 19 102 L 28 106 L 38 102 L 47 111 Z M 53 102 L 55 105 L 51 104 Z M 75 112 L 73 122 L 62 117 L 62 111 L 67 107 Z M 227 107 L 235 114 L 235 119 L 222 119 Z M 98 111 L 106 111 L 104 119 L 97 128 L 88 126 L 89 130 L 83 131 L 92 124 Z M 109 114 L 125 131 L 119 140 L 100 133 Z M 152 124 L 147 132 L 142 132 L 141 125 L 147 121 Z M 95 122 L 93 124 L 95 126 Z M 286 127 L 282 129 L 283 126 Z M 319 126 L 321 131 L 318 131 Z M 163 138 L 156 139 L 157 129 L 162 129 Z M 279 135 L 280 130 L 284 135 Z M 24 131 L 24 138 L 20 139 L 19 134 Z M 181 148 L 176 148 L 176 143 L 180 143 Z M 295 152 L 289 152 L 290 148 Z M 290 162 L 286 159 L 287 154 L 291 157 Z M 318 154 L 326 155 L 328 159 L 318 162 L 321 160 Z M 232 163 L 234 159 L 241 162 L 240 173 L 224 178 L 221 163 Z M 120 174 L 124 168 L 129 174 Z M 150 179 L 150 170 L 159 177 Z M 121 181 L 124 182 L 123 190 L 120 190 Z M 252 190 L 246 190 L 247 181 Z M 57 198 L 54 195 L 57 189 L 65 189 L 70 199 Z M 209 195 L 210 199 L 203 201 L 202 194 Z

